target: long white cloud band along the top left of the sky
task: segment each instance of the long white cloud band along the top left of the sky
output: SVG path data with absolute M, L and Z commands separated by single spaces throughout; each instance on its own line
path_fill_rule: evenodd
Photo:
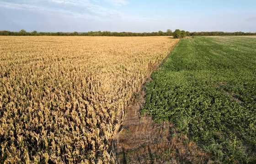
M 39 2 L 40 0 L 37 0 Z M 24 0 L 23 3 L 17 2 L 1 2 L 0 7 L 16 10 L 34 10 L 34 11 L 50 11 L 63 13 L 68 17 L 89 18 L 89 19 L 109 19 L 114 15 L 121 13 L 117 10 L 102 7 L 100 5 L 91 4 L 89 0 L 47 0 L 50 4 L 31 3 L 31 0 Z M 24 3 L 27 2 L 27 3 Z M 42 1 L 41 1 L 42 2 Z M 60 5 L 62 4 L 62 5 Z M 66 6 L 64 6 L 66 5 Z M 73 6 L 73 7 L 72 7 Z

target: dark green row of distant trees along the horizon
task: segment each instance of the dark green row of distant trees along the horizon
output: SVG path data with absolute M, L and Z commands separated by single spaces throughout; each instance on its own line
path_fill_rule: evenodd
M 186 36 L 253 36 L 251 32 L 189 32 L 184 30 L 167 30 L 158 32 L 110 32 L 110 31 L 89 31 L 89 32 L 19 32 L 0 31 L 0 36 L 173 36 L 174 38 L 184 38 Z

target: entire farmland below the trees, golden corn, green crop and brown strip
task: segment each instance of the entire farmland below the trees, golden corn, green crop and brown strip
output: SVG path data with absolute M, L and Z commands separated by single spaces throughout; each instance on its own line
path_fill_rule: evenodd
M 255 113 L 255 36 L 0 36 L 0 163 L 255 163 Z

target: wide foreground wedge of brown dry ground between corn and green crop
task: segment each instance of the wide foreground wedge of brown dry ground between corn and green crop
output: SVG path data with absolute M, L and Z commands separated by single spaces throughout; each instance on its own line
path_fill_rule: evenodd
M 117 163 L 211 163 L 208 154 L 176 132 L 173 124 L 157 124 L 151 117 L 141 116 L 144 96 L 142 88 L 125 110 L 121 130 L 112 142 L 112 155 Z

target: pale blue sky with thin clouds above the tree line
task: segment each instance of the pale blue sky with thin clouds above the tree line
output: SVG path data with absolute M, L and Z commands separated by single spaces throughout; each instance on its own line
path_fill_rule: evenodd
M 0 0 L 0 31 L 256 32 L 256 0 Z

